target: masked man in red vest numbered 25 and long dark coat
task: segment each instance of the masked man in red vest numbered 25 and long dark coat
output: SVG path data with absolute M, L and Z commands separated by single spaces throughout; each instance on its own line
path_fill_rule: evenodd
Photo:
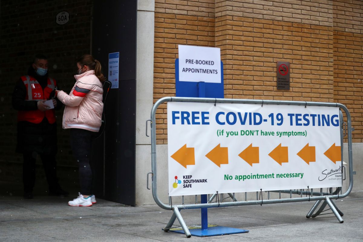
M 54 96 L 56 80 L 48 77 L 48 60 L 35 56 L 28 75 L 17 81 L 13 108 L 18 110 L 16 152 L 23 153 L 24 198 L 33 198 L 35 163 L 39 155 L 49 185 L 48 194 L 68 195 L 58 184 L 56 172 L 57 124 L 54 109 L 62 103 Z

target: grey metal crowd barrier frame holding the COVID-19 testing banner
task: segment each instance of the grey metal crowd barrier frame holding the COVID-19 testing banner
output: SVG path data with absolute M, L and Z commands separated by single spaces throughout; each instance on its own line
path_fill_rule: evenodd
M 197 198 L 195 201 L 195 204 L 184 204 L 184 196 L 183 196 L 183 202 L 179 205 L 171 205 L 171 204 L 164 204 L 158 197 L 157 194 L 157 170 L 156 170 L 156 122 L 155 122 L 155 114 L 157 108 L 160 106 L 160 104 L 163 104 L 165 102 L 196 102 L 196 103 L 240 103 L 240 104 L 284 104 L 284 105 L 295 105 L 295 106 L 325 106 L 325 107 L 339 107 L 340 108 L 340 125 L 342 127 L 342 112 L 343 110 L 346 114 L 347 118 L 347 141 L 348 141 L 348 166 L 349 166 L 349 186 L 348 189 L 343 193 L 342 187 L 337 188 L 333 192 L 333 188 L 329 188 L 329 191 L 325 192 L 323 191 L 323 188 L 320 189 L 319 192 L 314 192 L 313 189 L 295 189 L 295 190 L 280 190 L 280 191 L 268 191 L 268 199 L 267 200 L 259 200 L 258 198 L 258 192 L 256 192 L 256 200 L 247 200 L 247 193 L 245 193 L 245 201 L 237 201 L 235 198 L 235 194 L 228 193 L 228 196 L 232 198 L 231 202 L 223 202 L 223 194 L 221 194 L 221 201 L 213 202 L 213 199 L 216 197 L 217 194 L 213 194 L 212 196 L 209 196 L 208 203 L 197 203 Z M 152 196 L 154 197 L 154 200 L 156 204 L 160 206 L 160 208 L 166 209 L 166 210 L 172 210 L 173 215 L 171 216 L 168 224 L 163 229 L 165 232 L 169 231 L 174 224 L 176 218 L 178 218 L 178 221 L 184 230 L 184 233 L 186 237 L 191 237 L 191 233 L 189 232 L 189 229 L 187 225 L 185 224 L 183 217 L 180 214 L 180 210 L 182 209 L 201 209 L 201 208 L 223 208 L 223 207 L 230 207 L 230 206 L 245 206 L 245 205 L 256 205 L 256 204 L 278 204 L 278 203 L 287 203 L 287 202 L 303 202 L 303 201 L 315 201 L 315 204 L 310 209 L 309 213 L 307 213 L 307 218 L 314 218 L 321 214 L 326 205 L 329 206 L 331 211 L 334 213 L 334 215 L 337 217 L 338 221 L 340 223 L 343 223 L 343 213 L 337 208 L 337 205 L 335 205 L 334 199 L 338 198 L 344 198 L 348 196 L 348 194 L 351 192 L 353 188 L 353 158 L 352 158 L 352 127 L 351 127 L 351 116 L 348 111 L 348 109 L 340 103 L 324 103 L 324 102 L 298 102 L 298 101 L 272 101 L 272 100 L 250 100 L 250 99 L 219 99 L 219 98 L 184 98 L 184 97 L 164 97 L 156 101 L 154 106 L 151 110 L 151 179 L 152 179 Z M 343 132 L 342 129 L 340 131 L 340 138 L 342 141 L 341 147 L 343 149 Z M 343 158 L 343 151 L 342 151 L 342 158 Z M 342 159 L 343 160 L 343 159 Z M 344 170 L 345 171 L 345 170 Z M 343 181 L 343 161 L 342 161 L 342 181 Z M 279 198 L 278 199 L 270 199 L 270 192 L 278 192 Z M 289 193 L 290 198 L 281 198 L 281 193 Z M 339 194 L 340 193 L 340 194 Z M 298 194 L 300 197 L 293 197 L 292 194 Z M 305 197 L 303 197 L 305 195 Z M 307 197 L 309 195 L 309 197 Z M 195 195 L 196 196 L 196 195 Z M 170 197 L 169 197 L 170 200 Z M 315 210 L 320 205 L 321 201 L 324 201 L 321 207 L 318 209 L 318 211 L 315 212 Z

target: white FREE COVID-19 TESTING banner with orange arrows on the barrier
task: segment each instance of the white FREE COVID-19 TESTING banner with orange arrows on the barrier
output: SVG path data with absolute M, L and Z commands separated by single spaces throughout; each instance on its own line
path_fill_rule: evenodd
M 342 185 L 338 107 L 168 102 L 169 195 Z

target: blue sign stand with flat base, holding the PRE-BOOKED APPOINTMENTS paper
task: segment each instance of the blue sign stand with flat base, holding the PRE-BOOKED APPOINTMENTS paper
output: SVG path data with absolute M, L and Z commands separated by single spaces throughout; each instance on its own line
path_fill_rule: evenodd
M 223 82 L 223 62 L 221 61 L 221 82 L 186 82 L 179 81 L 179 59 L 175 60 L 175 91 L 176 97 L 196 97 L 196 98 L 224 98 Z M 208 203 L 207 194 L 200 195 L 201 203 Z M 247 233 L 248 230 L 235 229 L 213 225 L 208 229 L 208 209 L 201 210 L 201 228 L 189 229 L 192 235 L 198 237 L 208 237 L 223 234 Z M 183 230 L 170 230 L 176 233 L 184 233 Z

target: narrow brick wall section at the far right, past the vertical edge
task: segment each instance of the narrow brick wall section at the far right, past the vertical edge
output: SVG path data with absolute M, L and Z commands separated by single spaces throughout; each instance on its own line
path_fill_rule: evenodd
M 353 142 L 363 141 L 363 1 L 333 1 L 334 100 L 352 117 Z

